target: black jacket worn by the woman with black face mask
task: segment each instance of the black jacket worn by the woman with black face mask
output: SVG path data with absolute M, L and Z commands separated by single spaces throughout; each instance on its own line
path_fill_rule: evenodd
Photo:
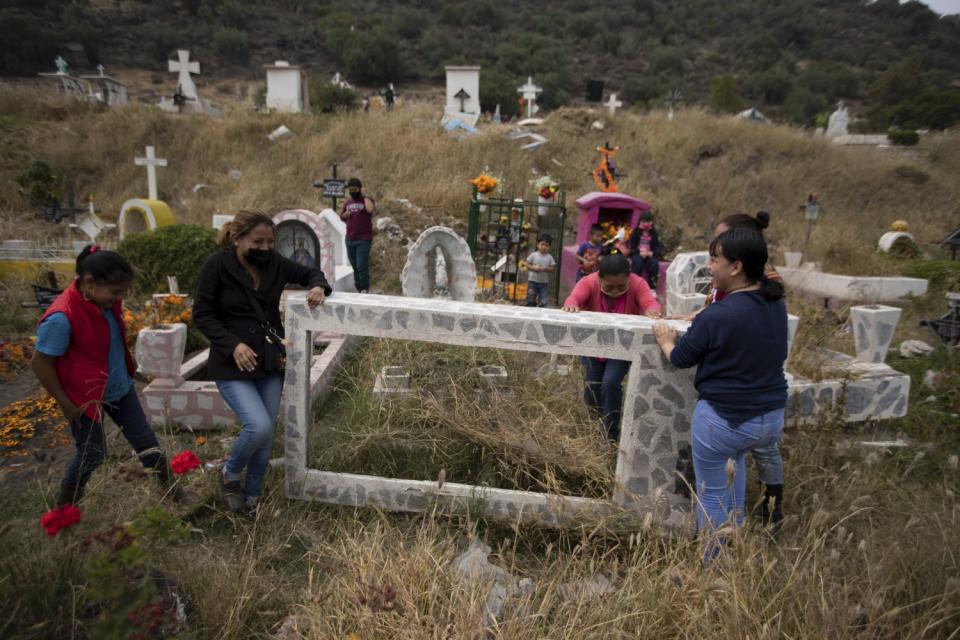
M 323 287 L 327 295 L 332 291 L 322 271 L 297 264 L 276 251 L 261 270 L 256 290 L 233 248 L 223 249 L 203 263 L 197 277 L 193 323 L 210 341 L 207 372 L 213 380 L 259 380 L 266 375 L 262 362 L 254 371 L 241 371 L 233 360 L 233 350 L 243 342 L 259 354 L 266 336 L 248 292 L 256 296 L 267 321 L 283 335 L 280 294 L 288 284 Z

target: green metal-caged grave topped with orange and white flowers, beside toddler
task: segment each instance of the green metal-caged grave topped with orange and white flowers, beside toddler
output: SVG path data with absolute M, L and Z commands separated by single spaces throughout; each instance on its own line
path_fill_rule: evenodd
M 523 304 L 527 297 L 526 258 L 536 250 L 537 239 L 549 235 L 550 253 L 558 265 L 567 217 L 565 194 L 550 176 L 532 182 L 536 200 L 506 195 L 503 180 L 482 173 L 470 181 L 467 244 L 477 269 L 479 300 Z M 552 278 L 550 295 L 556 303 L 559 278 Z

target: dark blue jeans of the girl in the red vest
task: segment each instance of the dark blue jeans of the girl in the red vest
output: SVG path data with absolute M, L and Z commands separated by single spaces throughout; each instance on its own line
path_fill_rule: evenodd
M 103 410 L 120 427 L 120 432 L 137 453 L 140 463 L 148 469 L 156 468 L 161 459 L 160 443 L 143 414 L 140 398 L 133 386 L 127 395 L 116 402 L 105 403 Z M 67 467 L 63 484 L 82 487 L 90 479 L 90 474 L 103 464 L 107 455 L 103 421 L 94 421 L 82 415 L 70 422 L 70 433 L 77 445 L 77 453 Z

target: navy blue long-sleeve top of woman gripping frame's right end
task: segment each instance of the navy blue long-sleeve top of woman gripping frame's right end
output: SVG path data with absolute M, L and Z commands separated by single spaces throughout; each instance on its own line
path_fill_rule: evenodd
M 734 293 L 708 306 L 670 354 L 675 367 L 697 365 L 700 399 L 734 427 L 787 406 L 786 359 L 786 305 L 759 291 Z

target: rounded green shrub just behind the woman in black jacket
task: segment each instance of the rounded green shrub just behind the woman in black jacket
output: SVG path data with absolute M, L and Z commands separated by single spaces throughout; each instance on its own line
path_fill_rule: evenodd
M 124 238 L 117 251 L 137 270 L 134 293 L 167 290 L 167 276 L 175 276 L 181 292 L 193 290 L 201 265 L 218 251 L 217 232 L 195 224 L 176 224 Z

